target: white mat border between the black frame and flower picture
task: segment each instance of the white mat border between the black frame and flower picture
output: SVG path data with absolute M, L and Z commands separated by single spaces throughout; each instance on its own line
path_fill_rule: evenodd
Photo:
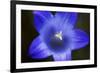
M 90 13 L 90 60 L 21 63 L 21 10 L 23 9 Z M 95 42 L 94 35 L 95 35 L 94 9 L 17 4 L 16 5 L 16 69 L 94 64 L 94 42 Z

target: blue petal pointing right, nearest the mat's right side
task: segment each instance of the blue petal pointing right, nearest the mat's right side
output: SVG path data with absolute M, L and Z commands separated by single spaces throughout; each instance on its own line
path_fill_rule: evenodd
M 72 50 L 85 47 L 89 43 L 89 36 L 79 29 L 74 30 L 74 34 L 71 38 L 72 42 L 70 48 L 72 48 Z

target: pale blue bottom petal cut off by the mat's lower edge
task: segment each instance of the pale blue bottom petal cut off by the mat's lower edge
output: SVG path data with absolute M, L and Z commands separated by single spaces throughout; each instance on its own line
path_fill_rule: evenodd
M 53 58 L 55 61 L 68 61 L 71 60 L 71 50 L 67 50 L 63 53 L 54 53 Z

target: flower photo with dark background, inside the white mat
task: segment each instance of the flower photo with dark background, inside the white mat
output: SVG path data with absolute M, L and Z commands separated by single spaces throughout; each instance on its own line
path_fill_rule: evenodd
M 90 58 L 89 13 L 22 10 L 21 15 L 22 62 Z

